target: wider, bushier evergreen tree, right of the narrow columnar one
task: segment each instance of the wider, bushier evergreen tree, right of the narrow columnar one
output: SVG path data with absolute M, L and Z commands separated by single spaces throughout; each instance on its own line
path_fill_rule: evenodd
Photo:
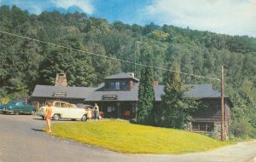
M 160 125 L 182 129 L 189 112 L 195 109 L 197 102 L 183 97 L 185 89 L 178 73 L 177 63 L 174 64 L 173 71 L 166 73 L 165 95 L 161 97 Z

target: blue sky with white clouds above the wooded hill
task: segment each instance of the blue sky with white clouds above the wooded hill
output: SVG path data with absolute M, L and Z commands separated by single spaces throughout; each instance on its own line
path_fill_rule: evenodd
M 256 0 L 0 0 L 30 14 L 83 12 L 109 22 L 189 27 L 256 38 Z

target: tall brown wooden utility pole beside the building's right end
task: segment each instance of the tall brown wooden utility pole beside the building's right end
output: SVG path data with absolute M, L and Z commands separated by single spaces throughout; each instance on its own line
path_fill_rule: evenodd
M 224 67 L 221 66 L 221 141 L 224 141 Z

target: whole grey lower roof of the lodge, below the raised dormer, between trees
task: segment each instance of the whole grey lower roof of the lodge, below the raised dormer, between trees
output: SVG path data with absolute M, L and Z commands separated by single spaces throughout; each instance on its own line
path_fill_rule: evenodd
M 89 87 L 62 87 L 51 85 L 36 85 L 32 93 L 32 97 L 52 97 L 55 98 L 55 92 L 66 92 L 67 96 L 63 98 L 79 98 L 84 101 L 102 101 L 102 95 L 117 95 L 115 101 L 137 101 L 139 83 L 135 84 L 131 90 L 104 91 L 104 83 L 97 88 Z M 164 85 L 154 85 L 155 101 L 161 101 L 161 95 L 164 95 Z M 221 94 L 217 90 L 212 89 L 212 84 L 191 84 L 185 85 L 187 90 L 185 96 L 195 98 L 220 98 Z M 56 96 L 60 98 L 60 96 Z M 224 96 L 228 97 L 228 96 Z M 104 100 L 108 101 L 108 100 Z

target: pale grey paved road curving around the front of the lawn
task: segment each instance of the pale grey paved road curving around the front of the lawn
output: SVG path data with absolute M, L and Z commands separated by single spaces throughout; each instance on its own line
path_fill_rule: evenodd
M 256 162 L 256 141 L 241 142 L 207 153 L 187 153 L 183 155 L 125 154 L 49 136 L 42 131 L 44 126 L 45 121 L 38 116 L 0 114 L 0 161 Z

